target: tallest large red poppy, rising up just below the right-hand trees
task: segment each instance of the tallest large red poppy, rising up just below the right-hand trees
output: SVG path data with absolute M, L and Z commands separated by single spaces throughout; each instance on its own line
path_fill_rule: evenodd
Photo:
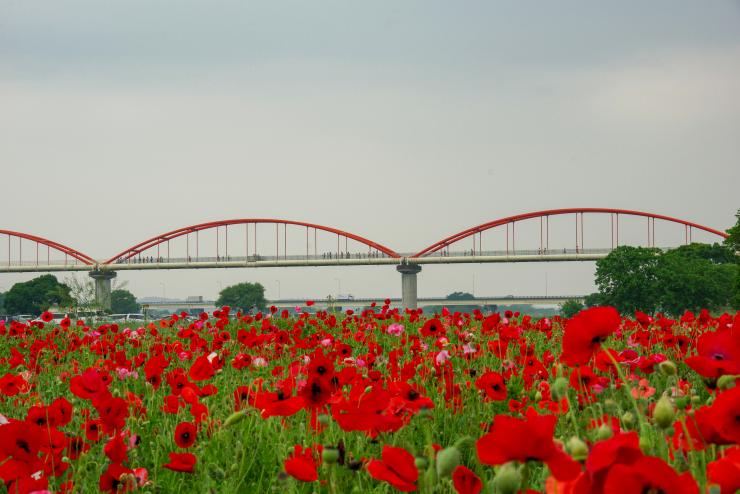
M 592 307 L 579 312 L 566 325 L 561 360 L 572 367 L 587 364 L 620 323 L 614 307 Z

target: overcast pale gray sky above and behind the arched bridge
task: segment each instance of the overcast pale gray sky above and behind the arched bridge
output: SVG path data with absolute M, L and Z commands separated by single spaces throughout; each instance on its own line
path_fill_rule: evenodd
M 97 258 L 238 217 L 398 251 L 560 207 L 726 229 L 739 87 L 736 1 L 0 0 L 0 228 Z M 608 217 L 586 221 L 607 225 L 586 246 L 607 247 Z M 657 224 L 659 244 L 682 238 L 671 228 Z M 549 293 L 587 293 L 593 269 L 425 267 L 419 293 L 475 277 L 477 294 L 539 294 L 545 273 Z M 0 289 L 33 276 L 0 275 Z M 400 294 L 391 266 L 120 278 L 137 296 L 245 280 L 268 297 L 276 280 L 283 297 Z

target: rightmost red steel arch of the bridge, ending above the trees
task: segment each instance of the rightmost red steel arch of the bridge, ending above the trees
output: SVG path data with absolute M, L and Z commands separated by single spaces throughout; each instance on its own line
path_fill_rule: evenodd
M 434 252 L 440 251 L 444 249 L 445 247 L 449 246 L 450 244 L 453 244 L 455 242 L 458 242 L 460 240 L 463 240 L 467 237 L 474 236 L 476 234 L 479 234 L 481 232 L 484 232 L 486 230 L 490 230 L 491 228 L 496 228 L 498 226 L 507 226 L 507 234 L 508 234 L 508 225 L 512 225 L 512 231 L 513 231 L 513 225 L 516 224 L 517 221 L 523 221 L 533 218 L 548 218 L 550 216 L 558 216 L 558 215 L 564 215 L 564 214 L 575 214 L 576 215 L 576 245 L 578 242 L 578 215 L 580 215 L 580 221 L 581 221 L 581 245 L 583 244 L 583 214 L 584 213 L 599 213 L 599 214 L 611 214 L 612 215 L 612 221 L 614 221 L 614 216 L 616 216 L 616 226 L 617 226 L 617 243 L 619 243 L 619 215 L 625 215 L 625 216 L 642 216 L 648 219 L 648 240 L 650 239 L 650 222 L 653 222 L 653 235 L 655 232 L 654 222 L 655 220 L 662 220 L 662 221 L 668 221 L 671 223 L 678 223 L 681 225 L 684 225 L 686 229 L 686 241 L 688 243 L 689 239 L 691 238 L 691 229 L 696 228 L 698 230 L 703 230 L 708 233 L 712 233 L 714 235 L 717 235 L 719 237 L 727 238 L 728 234 L 719 230 L 715 230 L 714 228 L 710 228 L 708 226 L 700 225 L 698 223 L 693 223 L 691 221 L 682 220 L 679 218 L 673 218 L 671 216 L 665 216 L 662 214 L 656 214 L 656 213 L 648 213 L 644 211 L 634 211 L 630 209 L 613 209 L 613 208 L 564 208 L 564 209 L 547 209 L 543 211 L 533 211 L 530 213 L 523 213 L 518 214 L 514 216 L 507 216 L 505 218 L 500 218 L 497 220 L 489 221 L 488 223 L 483 223 L 482 225 L 474 226 L 472 228 L 468 228 L 467 230 L 463 230 L 461 232 L 458 232 L 454 235 L 451 235 L 447 238 L 444 238 L 438 242 L 433 243 L 432 245 L 428 246 L 424 250 L 421 250 L 414 254 L 412 257 L 424 257 L 429 254 L 432 254 Z M 542 226 L 540 225 L 540 229 Z M 612 235 L 614 233 L 614 230 L 612 229 Z M 507 248 L 508 248 L 508 240 L 507 240 Z

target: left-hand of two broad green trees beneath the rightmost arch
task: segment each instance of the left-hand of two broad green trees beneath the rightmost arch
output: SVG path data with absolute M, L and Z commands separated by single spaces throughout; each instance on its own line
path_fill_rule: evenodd
M 621 246 L 596 261 L 600 305 L 612 305 L 623 314 L 635 310 L 655 312 L 659 302 L 659 259 L 659 249 Z

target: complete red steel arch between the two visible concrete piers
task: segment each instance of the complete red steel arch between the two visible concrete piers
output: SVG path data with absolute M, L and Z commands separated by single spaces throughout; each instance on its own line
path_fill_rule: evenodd
M 254 224 L 255 228 L 256 228 L 256 225 L 258 224 L 302 226 L 306 228 L 307 232 L 310 229 L 314 229 L 315 231 L 320 230 L 320 231 L 324 231 L 328 233 L 333 233 L 337 235 L 338 239 L 340 237 L 344 237 L 345 239 L 355 240 L 359 243 L 367 245 L 370 248 L 373 248 L 379 252 L 382 252 L 388 257 L 398 258 L 398 259 L 400 259 L 401 257 L 398 253 L 396 253 L 393 249 L 389 247 L 386 247 L 377 242 L 373 242 L 372 240 L 368 240 L 359 235 L 355 235 L 353 233 L 339 230 L 337 228 L 317 225 L 314 223 L 306 223 L 303 221 L 282 220 L 282 219 L 273 219 L 273 218 L 242 218 L 242 219 L 233 219 L 233 220 L 211 221 L 208 223 L 200 223 L 197 225 L 191 225 L 191 226 L 186 226 L 183 228 L 178 228 L 177 230 L 172 230 L 171 232 L 163 233 L 161 235 L 157 235 L 156 237 L 152 237 L 150 239 L 144 240 L 143 242 L 139 242 L 138 244 L 133 245 L 127 248 L 126 250 L 116 254 L 115 256 L 111 257 L 110 259 L 105 261 L 103 264 L 107 265 L 107 264 L 113 264 L 117 261 L 126 261 L 132 257 L 135 257 L 137 254 L 144 252 L 145 250 L 151 249 L 152 247 L 156 247 L 172 239 L 182 237 L 190 233 L 197 233 L 197 232 L 201 232 L 204 230 L 210 230 L 210 229 L 219 228 L 219 227 L 228 228 L 229 226 L 232 226 L 232 225 L 250 225 L 250 224 Z M 256 238 L 255 238 L 255 242 L 256 242 Z

